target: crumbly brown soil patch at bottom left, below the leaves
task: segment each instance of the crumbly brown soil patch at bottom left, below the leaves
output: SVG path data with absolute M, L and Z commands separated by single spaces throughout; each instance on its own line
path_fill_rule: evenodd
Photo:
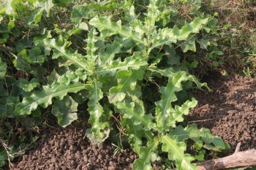
M 75 125 L 43 132 L 34 149 L 13 163 L 11 169 L 131 169 L 137 155 L 130 149 L 114 155 L 115 146 L 94 146 Z

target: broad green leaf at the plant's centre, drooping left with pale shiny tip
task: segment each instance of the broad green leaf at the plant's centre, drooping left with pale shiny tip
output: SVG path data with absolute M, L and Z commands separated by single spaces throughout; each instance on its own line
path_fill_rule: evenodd
M 112 87 L 109 90 L 108 100 L 110 103 L 123 101 L 127 91 L 133 91 L 136 86 L 136 81 L 143 79 L 143 71 L 118 71 L 117 79 L 119 85 Z

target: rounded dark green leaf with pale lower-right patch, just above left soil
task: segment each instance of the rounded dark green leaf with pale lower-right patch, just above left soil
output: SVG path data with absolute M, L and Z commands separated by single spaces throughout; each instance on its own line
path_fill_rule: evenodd
M 77 105 L 69 95 L 66 95 L 62 100 L 55 101 L 52 114 L 58 118 L 59 126 L 65 128 L 77 120 Z

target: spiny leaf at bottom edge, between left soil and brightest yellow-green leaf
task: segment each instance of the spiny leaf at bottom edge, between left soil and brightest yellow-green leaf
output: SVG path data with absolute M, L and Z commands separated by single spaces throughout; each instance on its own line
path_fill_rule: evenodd
M 136 159 L 133 163 L 133 169 L 152 169 L 151 163 L 156 161 L 157 146 L 158 142 L 156 141 L 148 142 L 148 146 L 142 146 L 139 149 L 139 159 Z

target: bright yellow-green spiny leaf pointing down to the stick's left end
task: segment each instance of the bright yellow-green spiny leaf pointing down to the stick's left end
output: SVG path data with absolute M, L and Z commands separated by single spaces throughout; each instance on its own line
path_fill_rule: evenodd
M 195 165 L 191 165 L 193 157 L 189 154 L 184 154 L 186 151 L 185 142 L 177 142 L 171 136 L 161 136 L 162 151 L 168 153 L 168 159 L 176 161 L 177 169 L 179 170 L 197 170 Z

